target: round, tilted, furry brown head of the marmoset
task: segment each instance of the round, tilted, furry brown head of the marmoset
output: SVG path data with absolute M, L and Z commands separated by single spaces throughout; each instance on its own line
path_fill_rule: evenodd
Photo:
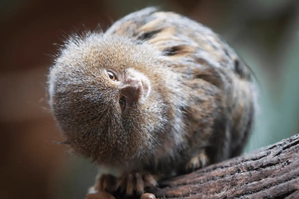
M 103 33 L 65 42 L 48 76 L 49 104 L 74 152 L 108 166 L 154 152 L 167 108 L 155 89 L 163 74 L 143 45 Z

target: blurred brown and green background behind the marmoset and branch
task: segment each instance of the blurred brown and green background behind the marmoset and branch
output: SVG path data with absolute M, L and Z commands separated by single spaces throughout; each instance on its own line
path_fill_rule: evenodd
M 219 33 L 261 86 L 260 115 L 246 152 L 298 133 L 297 0 L 1 0 L 0 196 L 83 199 L 96 167 L 71 157 L 45 102 L 54 43 L 132 11 L 160 6 Z

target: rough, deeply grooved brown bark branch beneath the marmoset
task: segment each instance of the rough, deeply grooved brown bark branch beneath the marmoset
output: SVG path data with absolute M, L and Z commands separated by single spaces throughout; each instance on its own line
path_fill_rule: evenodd
M 161 184 L 156 198 L 299 199 L 299 134 Z

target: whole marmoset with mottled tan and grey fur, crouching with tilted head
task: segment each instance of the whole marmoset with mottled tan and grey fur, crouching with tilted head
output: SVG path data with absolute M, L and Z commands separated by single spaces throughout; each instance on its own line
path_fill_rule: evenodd
M 154 7 L 70 37 L 48 83 L 70 148 L 101 169 L 90 192 L 142 194 L 240 155 L 257 109 L 251 71 L 218 34 Z

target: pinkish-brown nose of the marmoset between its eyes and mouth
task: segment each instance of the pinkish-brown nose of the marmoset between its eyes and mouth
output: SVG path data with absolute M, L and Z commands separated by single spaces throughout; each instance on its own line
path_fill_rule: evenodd
M 126 85 L 126 87 L 123 88 L 121 94 L 124 95 L 131 102 L 138 101 L 141 98 L 143 90 L 141 80 L 137 78 L 128 77 L 123 81 L 123 83 Z

